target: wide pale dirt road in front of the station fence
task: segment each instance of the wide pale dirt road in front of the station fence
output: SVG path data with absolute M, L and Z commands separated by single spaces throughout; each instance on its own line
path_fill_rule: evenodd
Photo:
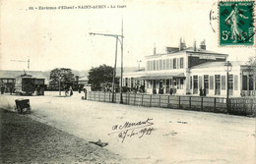
M 106 149 L 136 163 L 256 163 L 255 118 L 85 101 L 81 96 L 50 92 L 28 97 L 29 117 L 88 141 L 106 141 Z M 1 96 L 1 106 L 11 110 L 16 98 Z

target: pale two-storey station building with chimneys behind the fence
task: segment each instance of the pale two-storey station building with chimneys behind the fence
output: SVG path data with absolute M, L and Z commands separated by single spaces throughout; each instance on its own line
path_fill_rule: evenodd
M 206 49 L 205 41 L 200 47 L 186 47 L 180 40 L 178 47 L 166 47 L 166 52 L 145 57 L 145 70 L 124 73 L 123 86 L 144 85 L 148 94 L 226 96 L 228 69 L 228 93 L 230 97 L 255 94 L 253 73 L 244 62 L 229 62 L 227 54 Z M 160 90 L 163 90 L 160 92 Z

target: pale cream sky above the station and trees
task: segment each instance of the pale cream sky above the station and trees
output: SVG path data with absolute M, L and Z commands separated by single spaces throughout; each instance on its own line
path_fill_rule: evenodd
M 2 0 L 0 69 L 28 70 L 28 59 L 30 70 L 34 71 L 89 70 L 102 64 L 113 66 L 115 37 L 89 33 L 121 34 L 122 20 L 124 67 L 137 67 L 139 60 L 142 60 L 141 67 L 144 66 L 144 57 L 153 54 L 154 45 L 157 53 L 164 53 L 166 46 L 178 46 L 180 37 L 185 39 L 187 46 L 192 46 L 194 40 L 199 45 L 205 39 L 208 50 L 229 54 L 230 61 L 246 61 L 255 55 L 255 47 L 219 46 L 218 22 L 213 21 L 211 26 L 209 17 L 211 10 L 217 11 L 215 2 Z M 91 9 L 78 9 L 86 5 L 91 5 Z M 106 8 L 93 9 L 95 5 L 106 5 Z M 59 10 L 59 6 L 74 6 L 74 9 Z M 39 7 L 57 9 L 38 10 Z M 118 42 L 118 67 L 120 49 Z

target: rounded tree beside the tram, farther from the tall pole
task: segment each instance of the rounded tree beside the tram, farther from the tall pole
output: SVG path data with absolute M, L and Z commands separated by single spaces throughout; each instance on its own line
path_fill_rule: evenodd
M 72 73 L 72 70 L 66 68 L 51 70 L 49 87 L 57 89 L 59 87 L 59 82 L 61 88 L 65 85 L 72 85 L 74 82 L 74 74 Z

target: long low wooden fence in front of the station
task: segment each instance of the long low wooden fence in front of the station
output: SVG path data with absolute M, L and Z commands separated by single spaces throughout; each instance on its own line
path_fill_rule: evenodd
M 164 94 L 139 94 L 122 93 L 123 104 L 138 105 L 146 107 L 162 107 L 171 109 L 184 109 L 215 113 L 229 113 L 234 115 L 256 114 L 256 100 L 253 98 L 231 98 L 229 99 L 228 112 L 226 110 L 226 98 L 205 96 L 176 96 Z M 112 102 L 111 92 L 88 92 L 88 100 Z M 114 93 L 114 103 L 120 102 L 120 93 Z

